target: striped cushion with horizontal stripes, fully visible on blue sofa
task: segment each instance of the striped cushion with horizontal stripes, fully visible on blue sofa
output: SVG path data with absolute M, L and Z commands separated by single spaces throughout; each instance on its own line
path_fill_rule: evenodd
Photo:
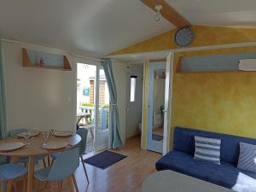
M 195 160 L 206 160 L 220 165 L 220 139 L 195 136 Z

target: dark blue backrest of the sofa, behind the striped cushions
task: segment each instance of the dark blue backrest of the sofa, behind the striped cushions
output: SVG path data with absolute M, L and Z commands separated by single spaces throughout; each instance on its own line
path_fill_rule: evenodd
M 191 155 L 195 154 L 195 136 L 221 139 L 220 160 L 237 166 L 239 157 L 239 143 L 256 145 L 256 139 L 236 137 L 210 131 L 200 131 L 183 127 L 175 127 L 173 137 L 173 149 Z

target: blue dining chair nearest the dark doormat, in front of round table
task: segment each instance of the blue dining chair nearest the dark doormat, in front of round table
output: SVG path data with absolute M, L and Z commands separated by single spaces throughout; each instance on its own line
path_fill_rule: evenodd
M 58 183 L 58 186 L 62 186 L 62 180 L 65 178 L 69 178 L 69 186 L 72 186 L 71 179 L 73 179 L 76 191 L 79 192 L 78 185 L 73 174 L 78 167 L 79 148 L 73 148 L 61 152 L 53 166 L 35 172 L 34 176 L 42 182 L 61 182 L 61 184 Z M 71 190 L 73 191 L 73 189 Z

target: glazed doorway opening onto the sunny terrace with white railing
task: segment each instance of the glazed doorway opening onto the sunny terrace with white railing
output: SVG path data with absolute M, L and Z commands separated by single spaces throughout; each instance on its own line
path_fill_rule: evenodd
M 108 147 L 109 93 L 101 65 L 77 64 L 77 124 L 87 129 L 86 153 Z

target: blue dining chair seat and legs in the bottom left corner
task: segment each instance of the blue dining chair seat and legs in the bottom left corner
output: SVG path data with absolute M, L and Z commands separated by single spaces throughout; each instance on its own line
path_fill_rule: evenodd
M 5 164 L 0 166 L 0 182 L 1 182 L 1 191 L 5 191 L 3 189 L 2 183 L 3 182 L 11 182 L 11 188 L 15 185 L 13 185 L 13 179 L 24 176 L 27 173 L 27 169 L 24 166 L 20 166 L 18 164 Z M 25 177 L 24 177 L 25 178 Z M 26 185 L 24 179 L 24 186 Z

